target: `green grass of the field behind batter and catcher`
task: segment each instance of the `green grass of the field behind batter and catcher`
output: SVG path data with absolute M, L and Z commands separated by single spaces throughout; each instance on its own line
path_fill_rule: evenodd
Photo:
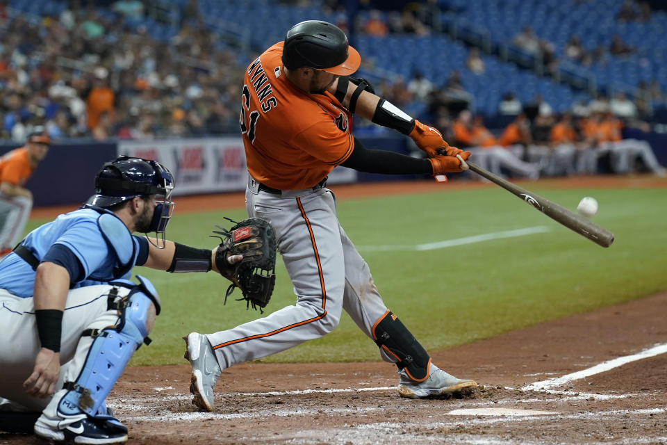
M 616 241 L 601 248 L 497 187 L 345 200 L 338 204 L 338 216 L 359 246 L 429 243 L 535 226 L 550 229 L 422 252 L 360 249 L 386 305 L 428 350 L 667 289 L 666 189 L 530 188 L 569 209 L 585 195 L 595 197 L 600 210 L 593 221 L 614 232 Z M 215 241 L 208 238 L 208 230 L 215 223 L 224 225 L 222 216 L 244 218 L 245 210 L 176 213 L 167 234 L 212 247 Z M 33 220 L 31 226 L 43 222 Z M 156 285 L 163 312 L 151 334 L 154 343 L 141 348 L 133 364 L 183 364 L 183 335 L 225 330 L 259 316 L 233 297 L 222 305 L 228 283 L 213 273 L 172 275 L 145 268 L 135 268 L 135 273 Z M 277 273 L 267 314 L 295 300 L 281 261 Z M 263 360 L 374 359 L 379 359 L 374 343 L 344 315 L 331 334 Z

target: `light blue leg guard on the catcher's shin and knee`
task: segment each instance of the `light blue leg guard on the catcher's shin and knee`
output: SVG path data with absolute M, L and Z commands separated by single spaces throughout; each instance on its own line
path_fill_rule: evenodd
M 65 383 L 68 391 L 58 403 L 59 412 L 69 415 L 85 412 L 96 416 L 134 351 L 141 343 L 150 343 L 147 336 L 153 324 L 153 311 L 160 311 L 160 300 L 153 284 L 137 277 L 140 284 L 129 280 L 113 282 L 109 309 L 118 311 L 118 324 L 83 333 L 94 340 L 76 382 Z M 121 297 L 117 295 L 118 286 L 131 290 Z

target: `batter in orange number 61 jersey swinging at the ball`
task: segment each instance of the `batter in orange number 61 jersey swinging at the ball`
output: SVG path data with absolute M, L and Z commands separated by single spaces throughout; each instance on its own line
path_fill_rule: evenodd
M 284 42 L 267 49 L 245 72 L 240 129 L 249 170 L 247 212 L 275 227 L 297 301 L 229 330 L 186 337 L 190 390 L 201 410 L 213 410 L 213 387 L 222 369 L 322 337 L 338 325 L 343 309 L 377 343 L 383 359 L 397 364 L 401 396 L 477 387 L 431 362 L 385 306 L 368 265 L 338 222 L 334 193 L 325 186 L 336 165 L 442 175 L 461 171 L 456 155 L 470 155 L 374 95 L 367 82 L 350 77 L 360 63 L 343 31 L 311 20 L 293 26 Z M 366 149 L 350 132 L 352 113 L 409 135 L 429 158 Z

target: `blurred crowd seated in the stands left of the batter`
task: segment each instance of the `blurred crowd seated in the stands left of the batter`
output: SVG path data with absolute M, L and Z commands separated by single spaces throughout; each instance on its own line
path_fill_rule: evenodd
M 45 125 L 54 139 L 198 136 L 236 131 L 243 68 L 196 17 L 168 45 L 125 29 L 130 0 L 101 17 L 72 1 L 59 17 L 0 24 L 3 139 Z M 140 2 L 139 2 L 140 3 Z

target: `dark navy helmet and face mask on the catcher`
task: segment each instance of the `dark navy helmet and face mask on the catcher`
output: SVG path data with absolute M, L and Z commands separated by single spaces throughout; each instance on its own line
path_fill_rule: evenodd
M 88 198 L 83 207 L 106 208 L 133 197 L 156 195 L 156 207 L 148 232 L 156 233 L 156 247 L 162 249 L 165 247 L 165 230 L 174 211 L 173 190 L 172 173 L 158 161 L 118 156 L 114 161 L 102 165 L 97 172 L 95 194 Z

